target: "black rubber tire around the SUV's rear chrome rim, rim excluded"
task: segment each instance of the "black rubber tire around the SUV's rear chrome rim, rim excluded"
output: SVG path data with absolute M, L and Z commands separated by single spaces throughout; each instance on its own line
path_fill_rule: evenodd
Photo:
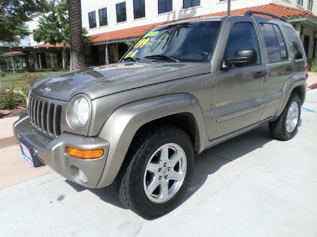
M 292 132 L 288 132 L 286 129 L 286 117 L 287 113 L 290 109 L 290 105 L 296 102 L 299 108 L 298 111 L 298 119 L 297 119 L 297 124 L 295 126 L 295 129 Z M 296 133 L 297 133 L 297 127 L 298 123 L 301 118 L 301 100 L 298 96 L 298 94 L 292 94 L 282 112 L 282 114 L 274 121 L 268 123 L 268 128 L 269 132 L 272 135 L 273 138 L 282 140 L 282 141 L 287 141 L 292 139 Z

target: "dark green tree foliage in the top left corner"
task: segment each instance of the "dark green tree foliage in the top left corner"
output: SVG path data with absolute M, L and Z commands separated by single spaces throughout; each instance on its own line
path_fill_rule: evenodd
M 25 22 L 34 14 L 47 11 L 50 4 L 46 0 L 0 0 L 0 41 L 13 42 L 17 36 L 28 36 Z

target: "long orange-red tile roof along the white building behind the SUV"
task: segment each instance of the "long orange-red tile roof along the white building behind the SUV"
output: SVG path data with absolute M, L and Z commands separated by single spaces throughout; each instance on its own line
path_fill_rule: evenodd
M 279 5 L 276 3 L 269 3 L 265 5 L 260 5 L 260 6 L 253 6 L 253 7 L 246 7 L 246 8 L 241 8 L 241 9 L 236 9 L 236 10 L 231 10 L 230 14 L 231 15 L 243 15 L 246 11 L 249 10 L 257 10 L 257 11 L 264 11 L 268 12 L 271 14 L 275 14 L 280 17 L 285 17 L 285 18 L 290 18 L 290 17 L 298 17 L 298 16 L 311 16 L 314 18 L 317 18 L 316 15 L 314 15 L 312 12 L 308 10 L 301 10 L 298 8 L 294 7 L 288 7 L 284 5 Z M 195 17 L 190 17 L 190 18 L 184 18 L 184 19 L 178 19 L 177 21 L 180 20 L 185 20 L 185 19 L 194 19 L 194 18 L 201 18 L 201 17 L 210 17 L 210 16 L 226 16 L 227 11 L 222 11 L 222 12 L 216 12 L 216 13 L 211 13 L 207 15 L 202 15 L 202 16 L 195 16 Z M 166 22 L 159 22 L 155 24 L 150 24 L 150 25 L 145 25 L 145 26 L 138 26 L 138 27 L 132 27 L 128 29 L 123 29 L 123 30 L 118 30 L 118 31 L 111 31 L 109 33 L 100 33 L 96 35 L 92 35 L 92 43 L 97 43 L 97 42 L 105 42 L 106 40 L 123 40 L 123 39 L 134 39 L 134 38 L 139 38 L 142 35 L 144 35 L 147 31 L 167 24 L 174 21 L 166 21 Z

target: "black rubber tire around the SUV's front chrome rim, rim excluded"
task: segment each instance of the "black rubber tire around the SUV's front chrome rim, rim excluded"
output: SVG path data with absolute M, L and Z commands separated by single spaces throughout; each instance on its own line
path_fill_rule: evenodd
M 185 195 L 194 170 L 194 150 L 188 135 L 176 126 L 164 125 L 140 135 L 125 158 L 115 180 L 115 187 L 124 206 L 146 219 L 154 219 L 171 211 Z M 165 202 L 154 202 L 144 190 L 144 174 L 151 156 L 161 146 L 175 143 L 186 155 L 186 173 L 176 194 Z

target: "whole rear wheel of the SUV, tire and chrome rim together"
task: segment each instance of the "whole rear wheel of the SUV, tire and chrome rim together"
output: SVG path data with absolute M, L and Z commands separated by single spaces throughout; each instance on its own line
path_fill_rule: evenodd
M 297 132 L 301 118 L 301 101 L 297 94 L 292 94 L 282 114 L 268 123 L 270 134 L 278 140 L 292 139 Z

